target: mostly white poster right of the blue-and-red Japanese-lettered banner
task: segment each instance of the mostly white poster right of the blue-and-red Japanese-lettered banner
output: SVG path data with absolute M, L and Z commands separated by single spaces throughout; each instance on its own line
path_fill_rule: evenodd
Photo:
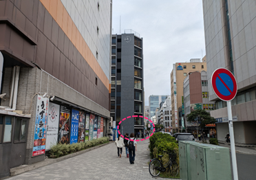
M 51 146 L 58 143 L 58 120 L 60 119 L 60 106 L 52 102 L 49 103 L 47 135 L 45 150 L 50 150 Z

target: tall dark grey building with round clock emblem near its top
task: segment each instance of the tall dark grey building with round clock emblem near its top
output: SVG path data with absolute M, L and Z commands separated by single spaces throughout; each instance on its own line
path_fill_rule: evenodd
M 120 133 L 144 131 L 143 39 L 135 34 L 112 35 L 111 114 Z M 132 117 L 138 115 L 138 117 Z M 140 133 L 141 135 L 141 133 Z

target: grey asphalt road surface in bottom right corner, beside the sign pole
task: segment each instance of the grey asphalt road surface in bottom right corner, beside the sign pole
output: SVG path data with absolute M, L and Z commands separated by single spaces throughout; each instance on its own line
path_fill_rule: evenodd
M 239 180 L 256 179 L 256 155 L 246 155 L 236 153 L 237 155 L 237 171 Z M 232 160 L 231 160 L 232 167 Z M 233 172 L 232 172 L 233 176 Z

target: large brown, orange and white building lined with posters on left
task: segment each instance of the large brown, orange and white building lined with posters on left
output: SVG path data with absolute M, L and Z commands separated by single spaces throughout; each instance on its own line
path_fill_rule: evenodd
M 107 134 L 111 0 L 0 7 L 1 179 L 44 161 L 56 143 L 88 140 L 89 115 L 97 117 L 97 137 Z

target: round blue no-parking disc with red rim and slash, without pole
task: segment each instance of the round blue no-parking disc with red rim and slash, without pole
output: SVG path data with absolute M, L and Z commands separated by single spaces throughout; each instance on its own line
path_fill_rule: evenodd
M 230 101 L 237 95 L 237 81 L 228 69 L 216 69 L 211 76 L 211 85 L 213 91 L 221 100 Z

